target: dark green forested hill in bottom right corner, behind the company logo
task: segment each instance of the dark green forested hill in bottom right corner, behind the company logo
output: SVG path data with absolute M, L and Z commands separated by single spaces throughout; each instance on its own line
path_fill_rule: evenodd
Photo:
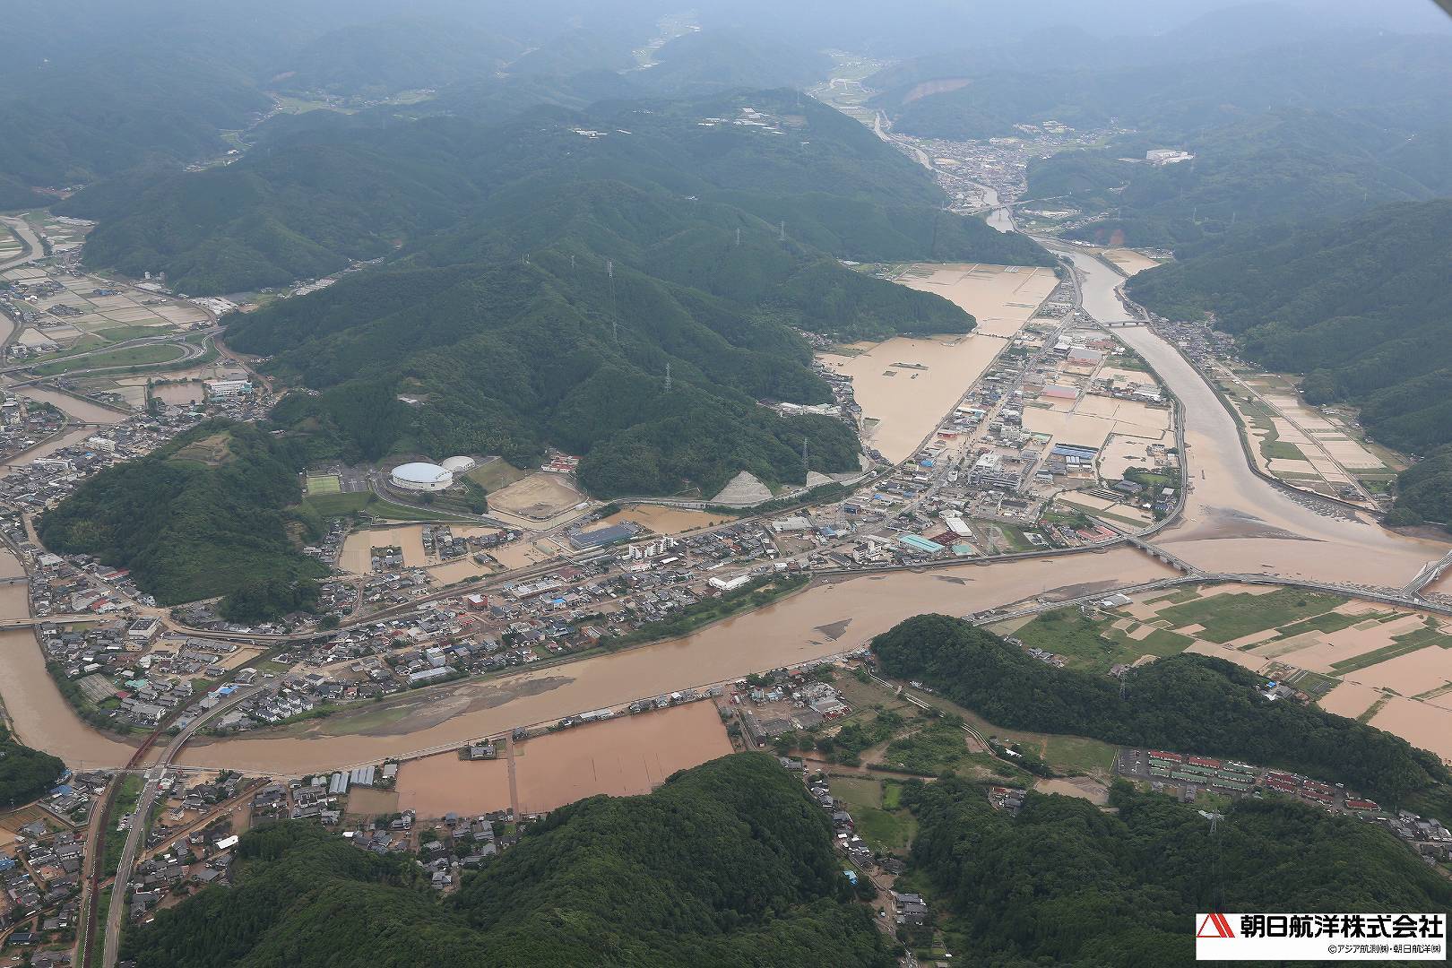
M 1452 885 L 1385 830 L 1291 800 L 1240 800 L 1215 832 L 1167 797 L 1111 791 L 1109 814 L 1029 794 L 1018 816 L 950 776 L 912 785 L 913 874 L 948 908 L 954 961 L 1194 964 L 1198 911 L 1440 911 Z

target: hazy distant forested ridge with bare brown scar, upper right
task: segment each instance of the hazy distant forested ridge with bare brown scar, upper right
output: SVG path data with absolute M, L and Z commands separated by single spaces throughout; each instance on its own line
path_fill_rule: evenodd
M 1304 13 L 1300 15 L 1304 17 Z M 1230 25 L 1244 33 L 1243 17 Z M 1188 33 L 1188 30 L 1186 30 Z M 1208 35 L 1207 35 L 1208 36 Z M 1221 32 L 1224 36 L 1224 32 Z M 1054 41 L 1057 42 L 1057 41 Z M 1047 119 L 1095 128 L 1118 122 L 1151 138 L 1185 138 L 1243 120 L 1268 106 L 1345 113 L 1411 132 L 1446 123 L 1439 96 L 1452 84 L 1452 39 L 1297 30 L 1295 41 L 1246 41 L 1227 51 L 1186 38 L 1147 41 L 1131 62 L 1122 46 L 1101 62 L 1061 71 L 951 57 L 908 61 L 867 78 L 874 106 L 896 129 L 923 138 L 1012 136 L 1013 125 Z

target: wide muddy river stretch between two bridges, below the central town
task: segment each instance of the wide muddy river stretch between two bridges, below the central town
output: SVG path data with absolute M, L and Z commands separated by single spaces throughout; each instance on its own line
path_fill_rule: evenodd
M 815 585 L 685 639 L 412 694 L 408 702 L 415 705 L 391 718 L 380 717 L 378 707 L 364 707 L 354 721 L 338 714 L 286 734 L 256 731 L 193 745 L 182 762 L 279 774 L 378 762 L 851 652 L 922 612 L 964 615 L 1034 596 L 1108 592 L 1172 573 L 1140 551 L 1117 549 L 992 566 L 858 575 Z

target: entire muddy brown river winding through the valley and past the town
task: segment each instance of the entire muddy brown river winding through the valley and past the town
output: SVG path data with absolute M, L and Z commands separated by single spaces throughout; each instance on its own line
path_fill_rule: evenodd
M 1086 280 L 1086 308 L 1112 315 L 1118 305 L 1114 286 L 1121 277 L 1089 255 L 1074 255 Z M 1156 538 L 1169 550 L 1208 570 L 1270 570 L 1366 585 L 1401 585 L 1446 550 L 1443 543 L 1401 537 L 1366 521 L 1323 517 L 1256 477 L 1246 467 L 1234 422 L 1194 369 L 1147 329 L 1117 332 L 1159 370 L 1189 415 L 1185 520 Z M 182 762 L 274 775 L 376 763 L 385 756 L 459 745 L 515 726 L 848 652 L 921 612 L 961 615 L 1034 598 L 1108 592 L 1170 573 L 1140 551 L 1117 549 L 819 582 L 685 639 L 411 694 L 395 715 L 386 715 L 388 704 L 370 704 L 372 710 L 314 721 L 285 736 L 257 731 L 199 743 Z M 23 614 L 25 599 L 0 598 L 0 607 L 4 614 Z M 70 711 L 33 637 L 7 636 L 0 643 L 0 695 L 20 737 L 73 766 L 123 762 L 129 747 L 99 737 Z

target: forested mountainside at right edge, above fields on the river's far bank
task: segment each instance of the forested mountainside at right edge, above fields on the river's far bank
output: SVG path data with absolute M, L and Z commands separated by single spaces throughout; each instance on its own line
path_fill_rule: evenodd
M 1347 402 L 1378 441 L 1452 444 L 1452 199 L 1308 228 L 1266 228 L 1191 250 L 1128 292 L 1170 318 L 1215 313 L 1256 363 L 1304 373 L 1313 403 Z M 1452 521 L 1442 462 L 1408 472 L 1398 521 Z

